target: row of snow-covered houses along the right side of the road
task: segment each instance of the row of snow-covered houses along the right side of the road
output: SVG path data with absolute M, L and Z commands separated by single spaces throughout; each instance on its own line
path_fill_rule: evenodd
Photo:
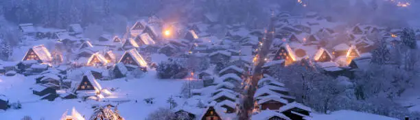
M 255 109 L 251 119 L 282 119 L 299 120 L 310 118 L 312 109 L 294 102 L 288 89 L 281 82 L 268 75 L 258 81 L 258 88 L 255 91 Z

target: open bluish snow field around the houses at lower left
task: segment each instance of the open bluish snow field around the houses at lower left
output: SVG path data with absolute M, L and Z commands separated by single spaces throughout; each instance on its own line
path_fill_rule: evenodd
M 104 88 L 118 88 L 113 96 L 113 100 L 130 100 L 119 104 L 118 109 L 125 119 L 144 119 L 147 115 L 159 107 L 169 107 L 166 100 L 171 95 L 176 97 L 180 93 L 180 88 L 184 80 L 161 80 L 155 78 L 155 71 L 150 71 L 143 78 L 132 79 L 126 81 L 125 78 L 100 81 Z M 25 77 L 16 76 L 0 76 L 0 93 L 9 97 L 10 102 L 19 100 L 22 108 L 14 110 L 12 108 L 5 112 L 0 112 L 1 119 L 21 119 L 25 115 L 29 115 L 32 119 L 56 120 L 60 119 L 63 112 L 67 109 L 75 107 L 84 117 L 88 118 L 93 113 L 92 105 L 107 104 L 106 102 L 87 101 L 81 102 L 80 99 L 60 100 L 54 102 L 47 100 L 39 100 L 40 97 L 32 94 L 29 88 L 35 84 L 34 76 Z M 143 99 L 154 97 L 154 104 L 146 104 Z M 135 102 L 137 100 L 137 103 Z M 179 101 L 179 99 L 175 99 Z M 117 104 L 115 102 L 110 102 Z

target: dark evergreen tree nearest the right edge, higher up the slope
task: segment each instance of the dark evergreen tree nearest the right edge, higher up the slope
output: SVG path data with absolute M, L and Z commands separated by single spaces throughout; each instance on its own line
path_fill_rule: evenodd
M 416 34 L 414 30 L 405 28 L 402 31 L 401 40 L 405 46 L 408 46 L 408 48 L 417 48 Z

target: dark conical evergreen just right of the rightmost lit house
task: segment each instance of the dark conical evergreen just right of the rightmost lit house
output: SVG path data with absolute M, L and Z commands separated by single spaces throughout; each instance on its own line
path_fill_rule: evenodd
M 379 43 L 377 43 L 377 48 L 372 52 L 372 59 L 371 63 L 376 63 L 379 65 L 384 65 L 390 59 L 390 52 L 388 46 L 386 46 L 386 42 L 382 39 Z

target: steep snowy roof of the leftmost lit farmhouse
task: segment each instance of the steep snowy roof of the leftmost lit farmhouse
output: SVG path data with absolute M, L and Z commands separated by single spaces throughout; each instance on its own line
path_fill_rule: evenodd
M 44 45 L 33 46 L 32 48 L 30 48 L 26 52 L 25 57 L 23 57 L 23 60 L 27 59 L 27 55 L 30 52 L 34 52 L 35 55 L 38 57 L 38 59 L 42 61 L 43 63 L 52 61 L 51 53 L 49 52 L 47 48 L 45 48 Z

